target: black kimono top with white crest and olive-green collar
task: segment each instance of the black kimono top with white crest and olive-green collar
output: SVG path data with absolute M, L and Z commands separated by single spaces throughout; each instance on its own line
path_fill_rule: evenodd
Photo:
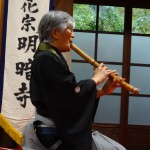
M 53 119 L 65 150 L 91 150 L 96 84 L 91 79 L 77 83 L 62 54 L 41 44 L 32 64 L 31 101 L 39 115 Z

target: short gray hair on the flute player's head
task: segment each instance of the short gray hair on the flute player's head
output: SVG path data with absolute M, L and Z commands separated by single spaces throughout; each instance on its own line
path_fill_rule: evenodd
M 51 42 L 51 33 L 54 29 L 64 30 L 68 26 L 74 27 L 74 19 L 63 11 L 49 11 L 40 20 L 38 34 L 40 41 Z

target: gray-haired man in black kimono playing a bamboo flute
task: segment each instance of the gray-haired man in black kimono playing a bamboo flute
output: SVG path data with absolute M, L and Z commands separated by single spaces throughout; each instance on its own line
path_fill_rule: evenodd
M 62 52 L 70 51 L 74 20 L 66 12 L 50 11 L 38 26 L 40 44 L 31 68 L 30 96 L 35 119 L 24 129 L 23 150 L 92 150 L 92 123 L 100 96 L 118 87 L 101 63 L 91 79 L 76 81 Z M 98 85 L 105 84 L 101 88 Z

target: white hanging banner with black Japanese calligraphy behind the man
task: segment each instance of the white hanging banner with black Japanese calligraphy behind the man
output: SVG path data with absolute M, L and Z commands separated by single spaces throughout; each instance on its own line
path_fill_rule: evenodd
M 50 0 L 9 0 L 1 113 L 18 131 L 34 117 L 29 80 L 39 44 L 37 27 Z

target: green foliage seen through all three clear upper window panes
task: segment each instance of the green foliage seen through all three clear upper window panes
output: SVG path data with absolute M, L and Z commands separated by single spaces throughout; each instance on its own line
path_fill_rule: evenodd
M 76 29 L 96 30 L 96 5 L 74 4 Z M 123 32 L 124 8 L 99 6 L 99 31 Z M 133 9 L 132 33 L 150 34 L 150 9 Z

